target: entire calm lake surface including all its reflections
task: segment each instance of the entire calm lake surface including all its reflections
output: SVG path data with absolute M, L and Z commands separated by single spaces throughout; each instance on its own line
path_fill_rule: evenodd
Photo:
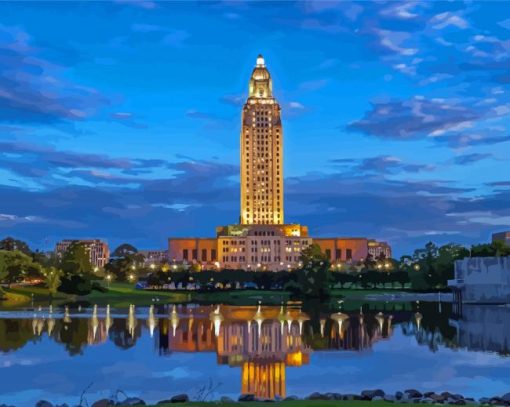
M 349 304 L 345 304 L 348 309 Z M 352 308 L 352 307 L 351 307 Z M 51 311 L 51 312 L 50 312 Z M 253 393 L 510 390 L 510 308 L 365 304 L 48 307 L 0 312 L 0 404 Z

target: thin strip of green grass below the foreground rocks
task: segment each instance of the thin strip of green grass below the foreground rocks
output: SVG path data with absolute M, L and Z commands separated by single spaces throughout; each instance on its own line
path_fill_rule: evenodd
M 343 400 L 292 400 L 282 401 L 285 407 L 386 407 L 386 401 L 343 401 Z M 250 402 L 235 402 L 235 403 L 222 403 L 222 402 L 189 402 L 184 403 L 186 407 L 211 407 L 211 406 L 244 406 L 244 407 L 267 407 L 266 402 L 263 401 L 250 401 Z M 158 404 L 157 407 L 175 407 L 173 404 Z M 155 405 L 153 407 L 156 407 Z

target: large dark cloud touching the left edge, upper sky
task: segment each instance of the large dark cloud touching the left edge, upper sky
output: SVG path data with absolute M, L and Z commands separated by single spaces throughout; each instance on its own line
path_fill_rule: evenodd
M 0 25 L 0 121 L 80 121 L 109 104 L 96 89 L 63 79 L 63 67 L 40 53 L 24 31 Z

